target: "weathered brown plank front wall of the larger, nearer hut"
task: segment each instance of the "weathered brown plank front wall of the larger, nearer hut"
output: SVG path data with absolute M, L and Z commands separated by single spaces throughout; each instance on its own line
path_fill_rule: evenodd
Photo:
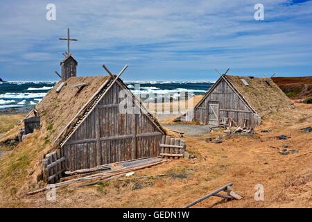
M 64 144 L 65 164 L 70 171 L 160 154 L 164 133 L 141 111 L 119 113 L 121 89 L 114 84 Z

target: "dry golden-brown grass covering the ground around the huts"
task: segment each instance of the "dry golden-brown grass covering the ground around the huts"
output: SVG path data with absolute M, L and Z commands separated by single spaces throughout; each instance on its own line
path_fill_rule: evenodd
M 234 136 L 222 144 L 205 142 L 211 134 L 184 137 L 187 151 L 196 155 L 192 160 L 173 160 L 136 171 L 135 176 L 166 173 L 159 178 L 120 181 L 119 179 L 85 188 L 77 185 L 57 190 L 57 201 L 49 202 L 45 193 L 23 195 L 34 189 L 32 182 L 36 160 L 44 153 L 33 151 L 33 139 L 44 140 L 39 132 L 17 147 L 0 164 L 0 207 L 183 207 L 227 182 L 234 182 L 234 191 L 242 200 L 221 202 L 211 197 L 196 207 L 312 207 L 312 150 L 311 133 L 301 129 L 312 125 L 312 105 L 296 103 L 291 113 L 277 113 L 267 117 L 256 129 L 257 137 Z M 272 133 L 261 133 L 270 128 Z M 222 135 L 222 132 L 214 133 Z M 276 139 L 287 135 L 287 140 Z M 297 154 L 280 155 L 282 144 L 289 144 Z M 35 156 L 23 159 L 24 154 Z M 14 161 L 13 161 L 14 160 Z M 15 167 L 20 164 L 23 167 Z M 10 172 L 10 173 L 8 173 Z M 16 176 L 15 176 L 16 175 Z M 254 186 L 263 184 L 265 200 L 254 200 Z M 26 189 L 21 189 L 24 187 Z

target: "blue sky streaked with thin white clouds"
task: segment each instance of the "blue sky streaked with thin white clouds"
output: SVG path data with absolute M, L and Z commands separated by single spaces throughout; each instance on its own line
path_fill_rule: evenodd
M 46 20 L 46 5 L 56 21 Z M 264 21 L 254 20 L 254 5 Z M 230 74 L 312 75 L 312 1 L 1 1 L 0 78 L 58 80 L 71 37 L 78 76 L 125 80 L 216 80 Z

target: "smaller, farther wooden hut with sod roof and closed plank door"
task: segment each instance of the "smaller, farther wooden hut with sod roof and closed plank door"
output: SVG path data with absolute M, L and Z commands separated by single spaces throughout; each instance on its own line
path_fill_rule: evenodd
M 264 115 L 291 104 L 270 78 L 222 75 L 194 108 L 193 120 L 212 126 L 231 120 L 254 128 Z

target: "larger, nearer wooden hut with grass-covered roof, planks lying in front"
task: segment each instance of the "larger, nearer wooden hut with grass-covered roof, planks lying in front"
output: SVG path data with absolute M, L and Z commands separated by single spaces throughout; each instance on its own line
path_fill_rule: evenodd
M 121 90 L 126 99 L 132 99 L 131 113 L 119 112 L 125 99 L 120 96 Z M 166 136 L 157 119 L 120 78 L 90 76 L 60 81 L 35 110 L 49 128 L 49 140 L 53 142 L 54 151 L 43 160 L 48 182 L 57 181 L 65 170 L 89 169 L 162 153 L 182 156 L 184 150 L 184 142 Z M 164 152 L 164 144 L 171 142 L 172 146 L 177 145 L 176 154 L 169 154 L 173 151 L 169 149 Z M 51 172 L 56 165 L 60 169 Z

